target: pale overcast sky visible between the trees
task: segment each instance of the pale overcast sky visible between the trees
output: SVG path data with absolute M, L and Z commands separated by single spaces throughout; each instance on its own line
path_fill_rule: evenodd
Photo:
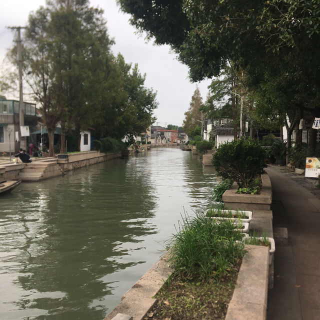
M 188 80 L 188 67 L 181 64 L 176 55 L 170 53 L 168 45 L 155 46 L 152 41 L 146 42 L 144 37 L 136 34 L 136 29 L 128 22 L 129 15 L 118 8 L 115 0 L 90 0 L 93 7 L 104 10 L 108 34 L 115 41 L 111 47 L 114 54 L 121 53 L 127 63 L 137 63 L 140 73 L 146 74 L 145 86 L 157 91 L 156 100 L 159 105 L 154 111 L 157 125 L 182 125 L 184 112 L 189 108 L 191 96 L 196 83 Z M 45 0 L 0 0 L 0 67 L 7 48 L 12 46 L 13 30 L 7 26 L 26 25 L 30 11 L 35 11 Z M 22 37 L 23 41 L 23 37 Z M 206 98 L 210 80 L 197 83 L 203 101 Z M 18 98 L 0 92 L 6 98 Z M 27 100 L 24 97 L 24 100 Z

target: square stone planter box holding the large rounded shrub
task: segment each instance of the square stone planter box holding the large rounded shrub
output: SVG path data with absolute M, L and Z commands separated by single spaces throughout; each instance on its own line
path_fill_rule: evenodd
M 235 193 L 238 188 L 233 183 L 231 188 L 222 194 L 222 201 L 227 209 L 232 210 L 270 210 L 272 202 L 271 181 L 269 176 L 264 173 L 261 175 L 262 188 L 260 194 L 240 194 Z

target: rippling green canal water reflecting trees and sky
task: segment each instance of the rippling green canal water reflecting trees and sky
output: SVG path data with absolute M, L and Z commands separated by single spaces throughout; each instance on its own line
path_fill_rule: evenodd
M 102 320 L 216 183 L 178 148 L 21 183 L 0 197 L 0 319 Z

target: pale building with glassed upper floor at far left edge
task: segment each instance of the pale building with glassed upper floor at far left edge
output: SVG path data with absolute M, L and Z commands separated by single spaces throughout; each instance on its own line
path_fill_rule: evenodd
M 23 104 L 24 125 L 28 125 L 29 131 L 32 132 L 36 128 L 38 119 L 36 107 L 34 103 L 23 102 Z M 0 96 L 0 152 L 18 152 L 20 142 L 16 132 L 19 131 L 19 101 L 8 100 L 4 96 Z M 27 137 L 27 140 L 29 139 Z

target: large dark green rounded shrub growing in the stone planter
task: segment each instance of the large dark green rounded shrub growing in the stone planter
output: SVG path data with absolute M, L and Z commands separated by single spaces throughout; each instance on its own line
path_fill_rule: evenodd
M 248 187 L 266 167 L 266 152 L 255 141 L 241 138 L 221 144 L 213 155 L 212 164 L 224 179 Z

